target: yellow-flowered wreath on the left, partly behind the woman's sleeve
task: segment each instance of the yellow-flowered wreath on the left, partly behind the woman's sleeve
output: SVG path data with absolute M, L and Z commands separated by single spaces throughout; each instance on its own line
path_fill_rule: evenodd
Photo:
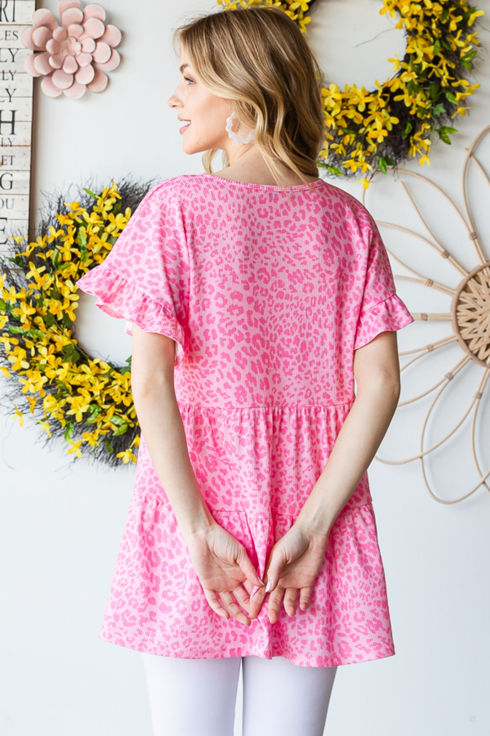
M 8 379 L 7 401 L 21 425 L 27 410 L 49 438 L 62 434 L 73 458 L 85 445 L 112 465 L 137 460 L 131 358 L 123 367 L 90 358 L 73 324 L 76 280 L 104 261 L 150 186 L 112 182 L 101 194 L 85 188 L 84 202 L 51 202 L 43 235 L 27 247 L 21 245 L 25 238 L 14 236 L 15 255 L 0 256 L 0 371 Z

